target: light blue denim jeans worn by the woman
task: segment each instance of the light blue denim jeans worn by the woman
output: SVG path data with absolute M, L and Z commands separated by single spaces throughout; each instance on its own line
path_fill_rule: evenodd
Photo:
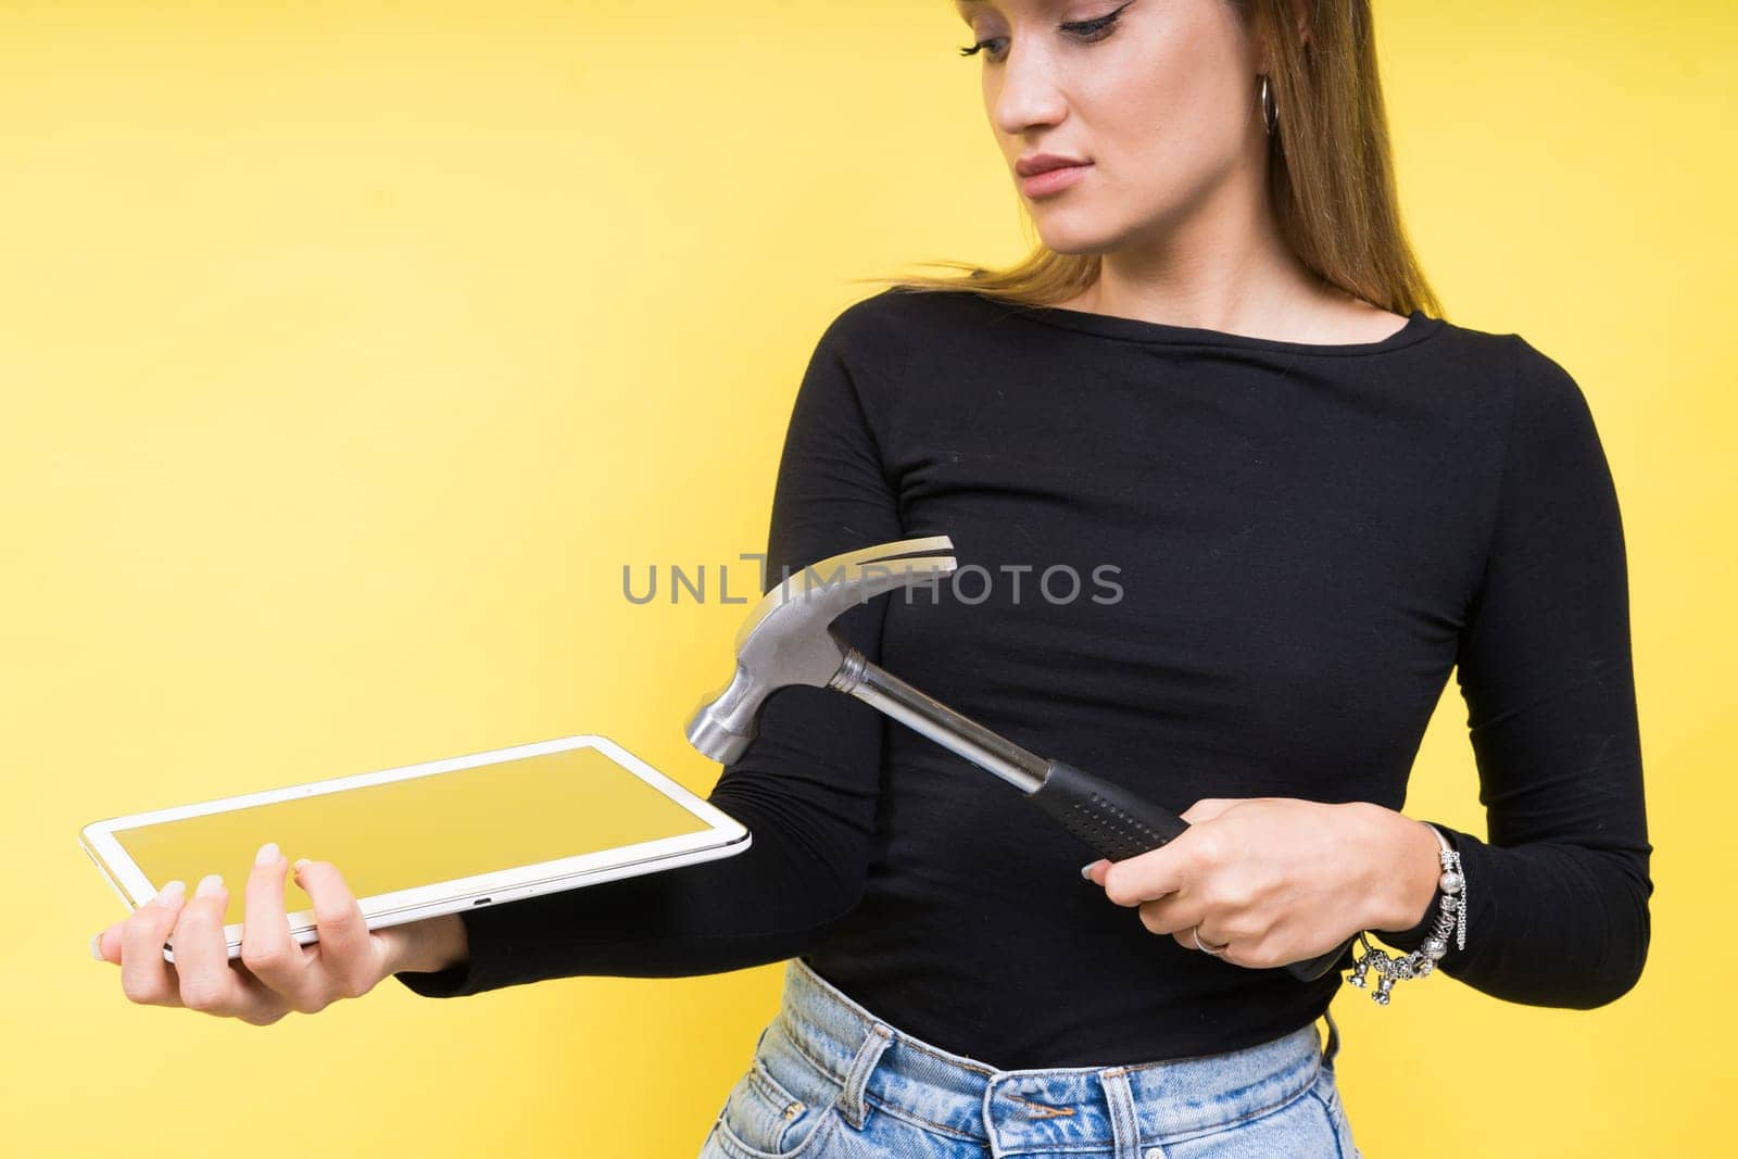
M 801 959 L 700 1159 L 1356 1159 L 1338 1027 L 1220 1055 L 998 1070 L 888 1025 Z

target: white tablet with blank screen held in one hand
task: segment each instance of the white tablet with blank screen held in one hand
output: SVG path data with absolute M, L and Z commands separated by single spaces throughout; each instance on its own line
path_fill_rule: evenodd
M 222 874 L 229 957 L 266 841 L 289 864 L 332 862 L 377 930 L 730 857 L 751 834 L 614 740 L 580 735 L 109 817 L 78 836 L 129 907 Z M 316 942 L 313 900 L 289 872 L 283 902 L 290 935 Z M 163 957 L 176 961 L 174 940 Z

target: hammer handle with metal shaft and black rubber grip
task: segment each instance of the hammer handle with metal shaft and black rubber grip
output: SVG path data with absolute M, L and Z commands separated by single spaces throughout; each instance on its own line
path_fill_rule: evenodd
M 1156 850 L 1189 829 L 1189 822 L 1161 805 L 1072 765 L 1034 756 L 972 718 L 954 712 L 935 697 L 869 664 L 857 648 L 846 652 L 845 664 L 839 666 L 829 688 L 874 705 L 944 749 L 996 773 L 1112 862 Z M 1347 938 L 1321 957 L 1286 963 L 1286 970 L 1305 982 L 1314 982 L 1335 968 L 1335 963 L 1352 949 L 1354 940 Z

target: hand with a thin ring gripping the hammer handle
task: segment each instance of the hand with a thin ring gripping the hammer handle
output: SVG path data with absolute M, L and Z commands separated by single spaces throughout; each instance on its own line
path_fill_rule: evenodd
M 1194 950 L 1199 931 L 1237 966 L 1284 966 L 1359 930 L 1406 930 L 1436 888 L 1429 827 L 1380 805 L 1203 798 L 1182 818 L 1189 829 L 1158 850 L 1093 862 L 1091 881 L 1140 907 L 1152 933 Z

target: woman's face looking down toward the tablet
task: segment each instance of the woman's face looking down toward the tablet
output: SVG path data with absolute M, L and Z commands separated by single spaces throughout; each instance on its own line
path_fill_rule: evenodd
M 1010 170 L 1038 153 L 1088 162 L 1036 186 L 1015 172 L 1048 248 L 1100 254 L 1170 236 L 1227 181 L 1262 188 L 1250 181 L 1265 156 L 1258 59 L 1227 0 L 954 7 L 978 45 Z

